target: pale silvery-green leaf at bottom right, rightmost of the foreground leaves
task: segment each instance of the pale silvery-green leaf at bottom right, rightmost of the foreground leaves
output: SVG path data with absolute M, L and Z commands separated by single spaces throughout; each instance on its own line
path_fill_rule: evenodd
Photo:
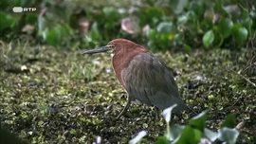
M 234 144 L 239 135 L 236 129 L 230 129 L 223 127 L 219 131 L 219 139 L 228 142 L 229 144 Z

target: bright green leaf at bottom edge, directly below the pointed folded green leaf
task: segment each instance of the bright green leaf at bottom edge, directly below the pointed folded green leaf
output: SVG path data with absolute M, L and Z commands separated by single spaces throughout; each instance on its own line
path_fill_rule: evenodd
M 195 144 L 198 143 L 201 139 L 202 133 L 197 129 L 192 128 L 192 126 L 188 125 L 183 130 L 180 137 L 177 141 L 174 141 L 175 144 Z

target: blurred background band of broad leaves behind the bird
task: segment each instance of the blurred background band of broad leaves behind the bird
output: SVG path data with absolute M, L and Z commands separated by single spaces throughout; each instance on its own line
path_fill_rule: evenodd
M 25 35 L 48 45 L 94 47 L 122 37 L 155 51 L 236 49 L 253 41 L 256 28 L 252 0 L 2 1 L 0 38 L 8 42 Z M 34 10 L 13 12 L 16 6 Z

